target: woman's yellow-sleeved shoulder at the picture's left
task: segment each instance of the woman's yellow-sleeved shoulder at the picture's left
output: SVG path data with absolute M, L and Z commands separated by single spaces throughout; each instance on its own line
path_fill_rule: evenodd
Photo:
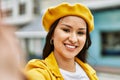
M 29 80 L 49 79 L 49 69 L 44 60 L 32 59 L 26 67 L 25 72 Z

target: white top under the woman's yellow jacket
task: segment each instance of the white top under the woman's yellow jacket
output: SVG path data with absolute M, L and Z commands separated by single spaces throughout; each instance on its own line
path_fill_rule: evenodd
M 60 68 L 60 72 L 64 78 L 64 80 L 89 80 L 85 71 L 81 68 L 81 66 L 76 63 L 76 71 L 69 72 Z

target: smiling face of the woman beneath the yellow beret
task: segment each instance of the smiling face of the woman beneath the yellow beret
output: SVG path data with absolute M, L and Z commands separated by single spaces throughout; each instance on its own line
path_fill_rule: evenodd
M 86 26 L 86 22 L 77 16 L 61 18 L 52 36 L 54 54 L 60 58 L 74 58 L 85 45 Z

